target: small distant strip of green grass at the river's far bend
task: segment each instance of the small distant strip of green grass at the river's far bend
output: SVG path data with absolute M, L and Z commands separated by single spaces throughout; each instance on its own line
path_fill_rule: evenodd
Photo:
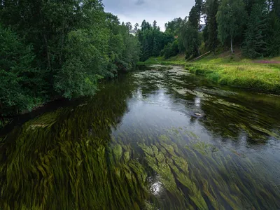
M 179 65 L 184 66 L 186 64 L 184 55 L 177 55 L 175 57 L 171 57 L 169 59 L 165 59 L 164 57 L 150 57 L 145 62 L 138 62 L 138 66 L 144 65 Z

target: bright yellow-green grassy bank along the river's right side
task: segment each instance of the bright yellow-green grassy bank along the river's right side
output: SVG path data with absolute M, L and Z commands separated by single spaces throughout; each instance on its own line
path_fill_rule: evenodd
M 223 85 L 280 94 L 280 64 L 265 63 L 279 60 L 280 57 L 276 57 L 262 62 L 238 56 L 210 55 L 198 62 L 186 64 L 186 69 Z

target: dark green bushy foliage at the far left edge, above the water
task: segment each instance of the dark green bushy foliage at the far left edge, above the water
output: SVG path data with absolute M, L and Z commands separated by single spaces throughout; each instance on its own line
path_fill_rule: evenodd
M 44 84 L 32 66 L 34 54 L 10 29 L 0 26 L 0 115 L 31 110 L 41 102 Z

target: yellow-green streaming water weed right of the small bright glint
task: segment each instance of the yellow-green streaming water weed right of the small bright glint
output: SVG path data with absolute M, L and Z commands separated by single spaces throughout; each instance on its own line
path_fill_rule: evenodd
M 258 169 L 250 162 L 234 153 L 223 157 L 223 153 L 211 144 L 192 142 L 195 141 L 190 141 L 186 150 L 181 150 L 167 136 L 160 136 L 155 145 L 139 144 L 162 186 L 177 197 L 178 209 L 263 209 L 279 205 L 275 197 L 279 195 L 279 189 L 251 180 Z M 254 190 L 244 183 L 254 183 Z M 271 196 L 269 204 L 259 197 L 261 192 Z M 253 199 L 255 196 L 258 201 Z

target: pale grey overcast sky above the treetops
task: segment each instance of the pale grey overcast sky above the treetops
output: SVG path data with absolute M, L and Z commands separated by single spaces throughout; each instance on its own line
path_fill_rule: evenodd
M 158 22 L 162 31 L 165 22 L 174 18 L 185 18 L 195 5 L 195 0 L 103 0 L 106 12 L 118 15 L 120 22 L 132 25 L 146 20 L 153 24 Z

